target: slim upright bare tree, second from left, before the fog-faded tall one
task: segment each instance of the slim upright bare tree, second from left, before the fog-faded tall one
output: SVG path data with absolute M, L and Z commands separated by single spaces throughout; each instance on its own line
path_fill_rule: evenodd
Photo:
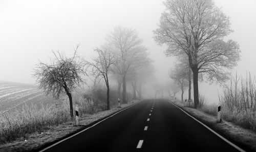
M 93 62 L 86 62 L 87 67 L 92 68 L 92 75 L 96 80 L 105 81 L 106 85 L 106 109 L 110 110 L 110 84 L 109 84 L 109 73 L 113 71 L 113 65 L 115 63 L 114 55 L 109 51 L 110 48 L 102 47 L 97 48 L 94 51 L 97 52 L 98 56 L 93 59 Z

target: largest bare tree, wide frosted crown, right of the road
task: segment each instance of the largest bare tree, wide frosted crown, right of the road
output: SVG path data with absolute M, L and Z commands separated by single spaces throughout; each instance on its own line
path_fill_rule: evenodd
M 240 59 L 239 45 L 223 41 L 232 30 L 228 17 L 212 0 L 166 0 L 164 5 L 154 38 L 159 45 L 168 45 L 166 55 L 188 56 L 197 107 L 199 73 L 207 75 L 209 81 L 226 81 L 225 69 L 233 68 Z

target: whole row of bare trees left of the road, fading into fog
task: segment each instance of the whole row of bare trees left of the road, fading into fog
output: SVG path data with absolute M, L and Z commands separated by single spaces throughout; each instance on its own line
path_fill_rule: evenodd
M 59 98 L 66 93 L 70 101 L 70 116 L 73 118 L 72 91 L 86 83 L 82 75 L 94 77 L 94 81 L 104 80 L 106 86 L 106 110 L 110 109 L 110 76 L 118 83 L 118 94 L 122 85 L 122 102 L 127 103 L 126 83 L 131 82 L 133 98 L 137 94 L 141 98 L 142 86 L 153 75 L 154 67 L 148 57 L 147 48 L 134 29 L 121 26 L 114 27 L 106 36 L 106 44 L 94 49 L 97 56 L 93 61 L 84 60 L 77 54 L 78 47 L 72 57 L 54 52 L 50 63 L 39 62 L 34 69 L 39 88 L 46 94 Z

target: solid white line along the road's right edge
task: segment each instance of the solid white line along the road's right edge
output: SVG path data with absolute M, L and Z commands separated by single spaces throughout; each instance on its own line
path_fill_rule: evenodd
M 174 103 L 172 103 L 171 101 L 168 100 L 169 103 L 175 105 Z M 233 144 L 232 142 L 230 142 L 229 140 L 227 140 L 226 138 L 224 138 L 223 136 L 221 136 L 220 134 L 216 133 L 214 130 L 212 130 L 210 127 L 208 127 L 207 125 L 205 125 L 204 123 L 202 123 L 201 121 L 197 120 L 195 117 L 189 115 L 187 112 L 185 112 L 184 110 L 182 110 L 182 108 L 180 108 L 179 106 L 175 105 L 176 107 L 178 107 L 182 112 L 184 112 L 185 114 L 187 114 L 189 117 L 193 118 L 194 120 L 196 120 L 197 122 L 199 122 L 200 124 L 202 124 L 204 127 L 206 127 L 207 129 L 209 129 L 209 131 L 211 131 L 212 133 L 214 133 L 215 135 L 217 135 L 218 137 L 220 137 L 222 140 L 224 140 L 225 142 L 227 142 L 228 144 L 230 144 L 231 146 L 233 146 L 234 148 L 238 149 L 241 152 L 246 152 L 245 150 L 243 150 L 242 148 L 240 148 L 239 146 Z

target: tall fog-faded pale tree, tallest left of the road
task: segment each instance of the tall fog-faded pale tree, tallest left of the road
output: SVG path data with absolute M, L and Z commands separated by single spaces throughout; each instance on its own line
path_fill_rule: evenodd
M 122 102 L 126 101 L 126 74 L 150 62 L 146 48 L 142 46 L 142 39 L 138 37 L 138 32 L 124 27 L 115 27 L 106 40 L 114 48 L 116 56 L 116 69 L 122 76 Z

